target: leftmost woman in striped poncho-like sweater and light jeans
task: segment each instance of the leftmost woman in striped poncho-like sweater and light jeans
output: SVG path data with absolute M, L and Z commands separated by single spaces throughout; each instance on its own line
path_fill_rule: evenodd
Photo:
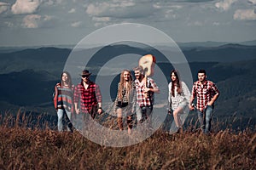
M 67 130 L 73 132 L 71 114 L 73 113 L 72 79 L 67 71 L 61 74 L 61 82 L 55 85 L 54 104 L 58 116 L 58 131 L 63 131 L 63 117 L 67 121 Z

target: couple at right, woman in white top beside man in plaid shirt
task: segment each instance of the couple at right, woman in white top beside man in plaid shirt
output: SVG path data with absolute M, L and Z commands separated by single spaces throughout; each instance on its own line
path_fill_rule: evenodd
M 190 111 L 195 110 L 194 100 L 196 99 L 196 111 L 203 133 L 210 133 L 214 102 L 218 99 L 219 91 L 214 82 L 207 80 L 207 72 L 199 70 L 198 81 L 194 82 L 192 92 L 185 82 L 180 81 L 177 71 L 171 71 L 171 82 L 169 83 L 169 113 L 173 114 L 177 132 L 183 132 L 183 122 L 180 115 L 185 107 Z

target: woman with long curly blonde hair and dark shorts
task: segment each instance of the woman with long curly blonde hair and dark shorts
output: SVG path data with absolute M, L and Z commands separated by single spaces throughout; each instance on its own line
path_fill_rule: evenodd
M 123 70 L 120 74 L 118 93 L 115 99 L 115 111 L 118 116 L 119 130 L 124 130 L 123 116 L 127 116 L 128 133 L 131 134 L 132 113 L 136 107 L 135 85 L 132 80 L 131 71 Z

